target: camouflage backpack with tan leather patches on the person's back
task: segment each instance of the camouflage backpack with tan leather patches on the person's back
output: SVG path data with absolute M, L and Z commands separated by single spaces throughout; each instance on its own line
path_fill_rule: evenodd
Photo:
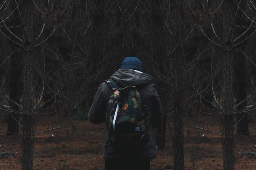
M 146 119 L 142 99 L 135 86 L 120 88 L 112 79 L 106 119 L 108 135 L 113 147 L 142 148 L 146 145 Z

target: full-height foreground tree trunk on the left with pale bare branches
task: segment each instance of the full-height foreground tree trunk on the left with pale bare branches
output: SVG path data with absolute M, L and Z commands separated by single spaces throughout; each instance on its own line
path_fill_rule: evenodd
M 33 170 L 34 124 L 33 113 L 34 61 L 33 61 L 33 1 L 22 1 L 23 40 L 23 136 L 22 170 Z

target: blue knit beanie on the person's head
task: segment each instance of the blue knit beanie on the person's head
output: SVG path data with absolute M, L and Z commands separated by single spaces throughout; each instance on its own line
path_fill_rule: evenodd
M 125 57 L 121 69 L 133 69 L 142 72 L 142 62 L 137 57 Z

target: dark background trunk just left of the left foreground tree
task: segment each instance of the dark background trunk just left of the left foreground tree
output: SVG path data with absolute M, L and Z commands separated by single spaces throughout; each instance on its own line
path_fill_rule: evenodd
M 18 112 L 20 104 L 20 56 L 18 52 L 14 52 L 11 55 L 11 66 L 10 66 L 10 82 L 9 82 L 9 95 L 11 108 L 14 110 L 9 113 L 7 135 L 14 135 L 19 133 L 19 114 Z

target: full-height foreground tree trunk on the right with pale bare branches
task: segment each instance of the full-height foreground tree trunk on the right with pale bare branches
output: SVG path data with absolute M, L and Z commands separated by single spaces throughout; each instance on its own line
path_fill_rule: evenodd
M 233 135 L 233 49 L 231 42 L 233 24 L 233 0 L 224 0 L 223 65 L 222 65 L 222 157 L 223 170 L 234 170 Z

